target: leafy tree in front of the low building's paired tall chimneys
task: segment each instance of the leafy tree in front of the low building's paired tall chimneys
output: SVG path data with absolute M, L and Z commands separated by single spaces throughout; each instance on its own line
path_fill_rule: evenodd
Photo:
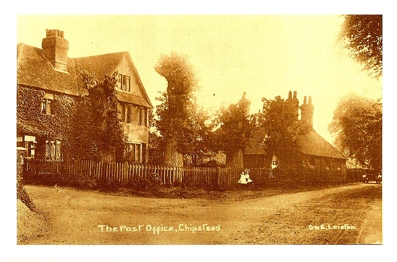
M 265 131 L 264 151 L 266 159 L 271 161 L 277 157 L 281 169 L 288 167 L 291 159 L 299 156 L 299 133 L 306 132 L 306 128 L 299 123 L 294 108 L 288 105 L 280 96 L 273 100 L 263 98 L 263 111 L 258 113 L 258 123 Z

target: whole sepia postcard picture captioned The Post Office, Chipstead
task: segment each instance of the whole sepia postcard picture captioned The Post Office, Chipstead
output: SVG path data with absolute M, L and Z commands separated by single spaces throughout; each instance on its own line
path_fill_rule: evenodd
M 383 244 L 382 19 L 18 15 L 16 244 Z

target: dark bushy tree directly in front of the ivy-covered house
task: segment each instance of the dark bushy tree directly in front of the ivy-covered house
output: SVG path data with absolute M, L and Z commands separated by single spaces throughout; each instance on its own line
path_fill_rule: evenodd
M 87 72 L 82 72 L 80 77 L 81 88 L 88 95 L 76 105 L 73 156 L 122 160 L 124 132 L 117 116 L 115 75 L 105 76 L 103 81 Z

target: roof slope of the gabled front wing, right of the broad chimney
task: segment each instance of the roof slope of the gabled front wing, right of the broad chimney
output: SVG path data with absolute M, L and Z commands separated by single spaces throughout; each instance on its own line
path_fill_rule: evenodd
M 106 53 L 74 58 L 76 70 L 85 70 L 89 73 L 94 72 L 98 80 L 102 80 L 105 74 L 111 74 L 120 64 L 121 59 L 128 52 Z

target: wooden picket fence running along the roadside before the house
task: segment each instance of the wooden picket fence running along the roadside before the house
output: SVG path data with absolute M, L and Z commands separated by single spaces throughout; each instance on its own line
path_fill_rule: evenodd
M 24 174 L 27 177 L 56 177 L 63 174 L 104 178 L 127 183 L 132 179 L 153 179 L 164 185 L 201 185 L 220 189 L 237 186 L 241 168 L 220 167 L 175 167 L 150 164 L 129 164 L 93 160 L 53 161 L 25 159 Z M 251 169 L 250 177 L 257 185 L 271 183 L 269 169 Z M 41 179 L 42 180 L 42 179 Z

